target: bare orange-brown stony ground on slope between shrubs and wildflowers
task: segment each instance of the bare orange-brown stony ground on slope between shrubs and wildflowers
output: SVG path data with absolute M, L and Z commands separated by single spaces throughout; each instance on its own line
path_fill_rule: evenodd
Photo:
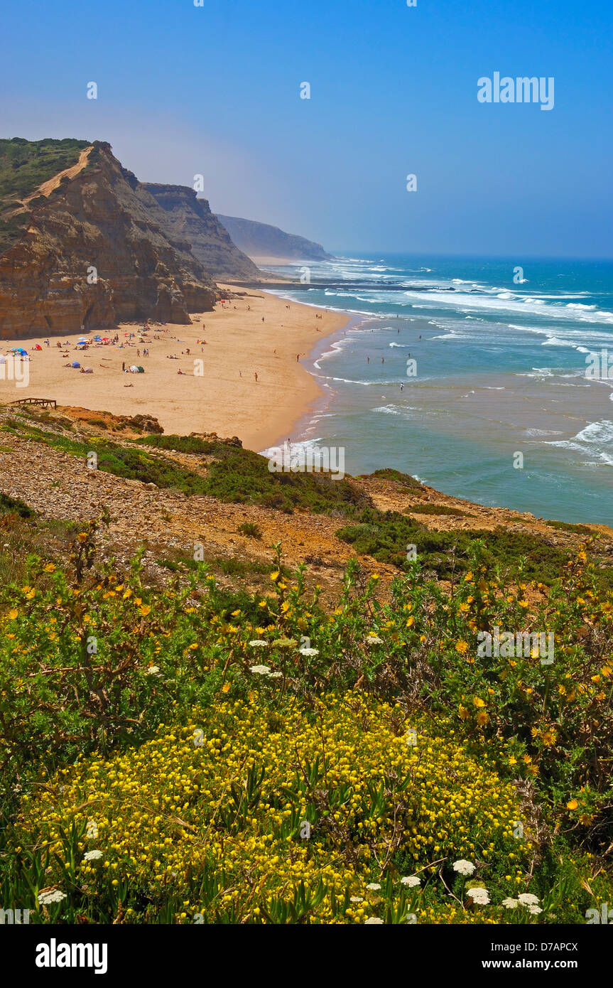
M 14 418 L 15 408 L 0 408 L 0 428 Z M 134 423 L 106 412 L 86 409 L 57 408 L 48 417 L 36 410 L 24 413 L 32 425 L 53 431 L 56 424 L 71 425 L 71 439 L 87 441 L 88 437 L 105 437 L 120 443 L 122 438 L 142 435 L 143 427 L 155 430 L 155 424 Z M 33 421 L 34 420 L 34 421 Z M 140 429 L 136 427 L 140 426 Z M 234 439 L 233 443 L 239 441 Z M 148 451 L 150 452 L 150 451 Z M 206 469 L 206 457 L 187 453 L 157 451 L 172 458 L 195 473 Z M 576 548 L 584 535 L 560 531 L 527 513 L 503 508 L 488 508 L 457 498 L 446 497 L 432 488 L 407 488 L 394 479 L 380 476 L 356 478 L 356 483 L 382 511 L 413 515 L 429 529 L 436 531 L 492 531 L 499 526 L 509 531 L 538 535 L 549 544 Z M 110 523 L 101 533 L 105 554 L 126 564 L 139 545 L 146 545 L 146 568 L 152 578 L 167 577 L 168 569 L 160 560 L 192 556 L 194 545 L 201 543 L 204 559 L 215 566 L 220 560 L 241 566 L 249 563 L 269 563 L 270 546 L 280 541 L 284 562 L 293 567 L 305 562 L 309 566 L 309 583 L 319 583 L 327 591 L 338 588 L 347 559 L 355 555 L 353 548 L 335 533 L 344 524 L 341 517 L 313 515 L 294 511 L 287 515 L 259 505 L 228 504 L 212 497 L 186 495 L 176 489 L 158 489 L 153 484 L 125 479 L 102 470 L 89 469 L 85 462 L 62 451 L 52 450 L 43 443 L 2 432 L 0 436 L 0 490 L 18 498 L 34 509 L 46 521 L 72 521 L 79 525 L 89 519 L 100 519 L 109 513 Z M 416 508 L 455 509 L 461 515 L 423 514 Z M 428 508 L 429 510 L 429 508 Z M 245 523 L 258 526 L 261 537 L 243 535 L 238 531 Z M 613 530 L 606 526 L 588 526 L 599 535 L 599 544 L 606 554 L 613 555 Z M 360 562 L 366 573 L 377 572 L 383 583 L 398 570 L 391 565 L 362 556 Z M 226 567 L 227 568 L 227 567 Z M 231 567 L 230 567 L 231 568 Z M 266 583 L 267 577 L 253 573 L 247 583 Z

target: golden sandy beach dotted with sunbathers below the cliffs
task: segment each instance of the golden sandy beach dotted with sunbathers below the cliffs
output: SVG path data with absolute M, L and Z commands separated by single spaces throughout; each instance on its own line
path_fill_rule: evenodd
M 167 434 L 238 436 L 247 449 L 259 452 L 291 436 L 321 393 L 300 362 L 319 339 L 347 321 L 342 313 L 248 289 L 218 302 L 213 312 L 192 314 L 191 326 L 150 323 L 143 334 L 142 326 L 122 324 L 85 333 L 89 340 L 119 338 L 85 351 L 77 349 L 81 334 L 49 337 L 49 346 L 44 337 L 4 340 L 4 354 L 11 347 L 28 351 L 30 382 L 17 387 L 15 380 L 4 379 L 6 371 L 0 377 L 0 402 L 40 397 L 115 415 L 148 413 Z M 68 346 L 58 348 L 58 342 Z M 64 366 L 73 361 L 94 372 Z M 122 365 L 145 372 L 126 373 Z

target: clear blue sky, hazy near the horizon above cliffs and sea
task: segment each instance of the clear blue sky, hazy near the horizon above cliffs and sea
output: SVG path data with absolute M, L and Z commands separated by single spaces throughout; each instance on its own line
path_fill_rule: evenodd
M 610 258 L 611 21 L 610 0 L 30 0 L 2 15 L 0 135 L 109 140 L 143 181 L 200 173 L 216 211 L 332 250 Z M 495 71 L 553 76 L 554 109 L 480 104 Z

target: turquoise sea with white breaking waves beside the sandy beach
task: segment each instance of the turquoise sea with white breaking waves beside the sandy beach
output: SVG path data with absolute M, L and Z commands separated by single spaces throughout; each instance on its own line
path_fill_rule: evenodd
M 292 441 L 345 447 L 350 473 L 613 524 L 613 262 L 354 256 L 310 279 L 275 293 L 352 321 L 305 362 L 325 397 Z

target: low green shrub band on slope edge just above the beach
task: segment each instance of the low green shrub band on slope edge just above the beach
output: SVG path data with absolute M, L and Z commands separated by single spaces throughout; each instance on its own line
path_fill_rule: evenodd
M 84 440 L 36 412 L 10 418 L 0 428 L 84 460 L 94 452 L 98 469 L 162 489 L 207 495 L 234 504 L 260 505 L 285 514 L 302 511 L 338 518 L 337 537 L 359 555 L 403 569 L 409 546 L 415 546 L 424 570 L 441 579 L 470 568 L 475 539 L 483 535 L 476 530 L 432 531 L 407 514 L 376 508 L 372 498 L 350 477 L 335 480 L 327 473 L 270 472 L 264 456 L 221 440 L 172 435 L 147 436 L 122 444 L 103 437 Z M 192 465 L 186 466 L 164 453 L 189 453 Z M 422 490 L 419 481 L 397 470 L 379 470 L 373 476 L 398 482 L 411 491 Z M 456 514 L 453 509 L 445 511 L 444 506 L 442 510 L 431 506 L 435 512 L 421 512 L 422 507 L 427 505 L 413 505 L 410 510 L 426 515 Z M 590 535 L 586 526 L 566 529 Z M 550 539 L 509 532 L 503 527 L 488 534 L 484 552 L 487 565 L 493 569 L 498 567 L 510 576 L 520 567 L 524 579 L 546 585 L 564 571 L 567 558 L 564 548 Z M 596 579 L 604 588 L 613 589 L 613 568 L 608 564 L 599 566 Z

